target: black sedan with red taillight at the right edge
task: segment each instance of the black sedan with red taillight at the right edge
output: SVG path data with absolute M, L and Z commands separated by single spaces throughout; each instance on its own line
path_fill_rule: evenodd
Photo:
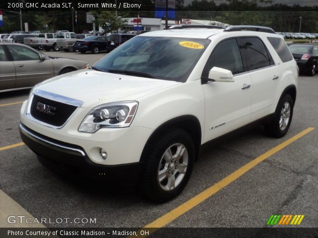
M 299 70 L 314 76 L 318 69 L 318 46 L 291 45 L 289 47 Z

